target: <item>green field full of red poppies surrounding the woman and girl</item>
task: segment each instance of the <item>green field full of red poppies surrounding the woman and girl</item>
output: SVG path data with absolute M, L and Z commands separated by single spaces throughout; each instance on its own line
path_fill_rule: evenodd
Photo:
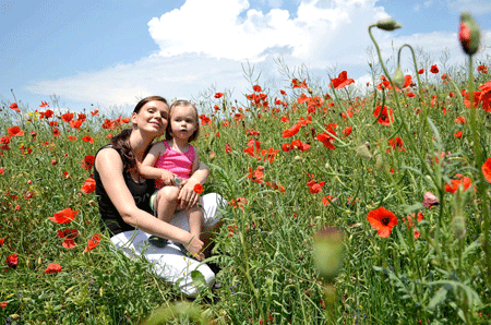
M 129 116 L 2 101 L 0 324 L 489 324 L 490 58 L 414 59 L 380 57 L 363 94 L 286 69 L 196 100 L 228 206 L 193 301 L 99 229 L 93 155 Z

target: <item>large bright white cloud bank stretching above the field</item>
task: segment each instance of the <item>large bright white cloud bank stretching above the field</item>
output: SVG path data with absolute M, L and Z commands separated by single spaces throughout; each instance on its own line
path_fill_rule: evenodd
M 220 92 L 235 88 L 240 95 L 251 86 L 241 64 L 254 62 L 262 81 L 280 80 L 274 62 L 278 57 L 291 69 L 307 64 L 325 80 L 325 70 L 336 65 L 364 83 L 366 51 L 372 46 L 367 27 L 388 16 L 376 0 L 302 0 L 292 14 L 285 9 L 249 8 L 248 0 L 187 0 L 148 22 L 157 53 L 131 64 L 37 82 L 28 91 L 101 105 L 134 105 L 137 97 L 153 94 L 190 98 L 211 85 Z M 374 35 L 385 59 L 393 47 L 409 43 L 436 58 L 447 47 L 464 60 L 455 33 L 397 37 L 397 33 L 374 31 Z M 483 36 L 490 44 L 490 33 Z

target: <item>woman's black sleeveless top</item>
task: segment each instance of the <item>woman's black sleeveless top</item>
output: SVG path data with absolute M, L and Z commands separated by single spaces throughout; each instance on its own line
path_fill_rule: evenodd
M 97 154 L 104 148 L 111 148 L 110 145 L 105 145 L 99 148 Z M 117 151 L 115 148 L 115 151 Z M 118 151 L 117 151 L 118 152 Z M 121 153 L 118 152 L 121 156 Z M 142 183 L 135 182 L 131 174 L 128 171 L 123 171 L 124 182 L 130 190 L 131 195 L 133 195 L 134 202 L 136 203 L 136 207 L 143 209 L 149 214 L 153 214 L 149 207 L 149 197 L 152 193 L 155 191 L 154 180 L 145 180 Z M 134 227 L 124 222 L 118 209 L 115 207 L 112 202 L 109 200 L 109 196 L 104 189 L 103 182 L 100 180 L 99 172 L 97 171 L 94 165 L 94 180 L 96 182 L 96 195 L 97 202 L 99 204 L 99 213 L 100 213 L 100 228 L 104 230 L 105 228 L 109 229 L 110 234 L 118 234 L 122 231 L 134 230 Z

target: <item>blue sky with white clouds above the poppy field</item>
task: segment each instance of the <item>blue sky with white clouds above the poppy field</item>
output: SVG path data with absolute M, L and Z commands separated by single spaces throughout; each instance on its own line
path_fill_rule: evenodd
M 385 58 L 409 43 L 429 63 L 440 63 L 446 48 L 458 64 L 463 10 L 490 46 L 491 2 L 482 0 L 0 1 L 0 100 L 14 101 L 13 89 L 17 103 L 36 109 L 41 100 L 52 106 L 56 94 L 61 109 L 81 111 L 127 110 L 147 95 L 200 98 L 228 89 L 240 97 L 251 88 L 247 67 L 254 67 L 252 83 L 259 76 L 261 85 L 287 88 L 278 58 L 290 75 L 306 67 L 328 82 L 347 70 L 364 84 L 369 24 L 387 16 L 403 24 L 376 33 Z

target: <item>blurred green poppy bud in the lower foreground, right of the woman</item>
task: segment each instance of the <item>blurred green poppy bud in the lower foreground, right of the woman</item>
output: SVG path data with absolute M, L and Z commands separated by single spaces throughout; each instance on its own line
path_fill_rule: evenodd
M 343 266 L 344 233 L 334 227 L 325 227 L 314 234 L 313 257 L 321 277 L 331 281 Z

